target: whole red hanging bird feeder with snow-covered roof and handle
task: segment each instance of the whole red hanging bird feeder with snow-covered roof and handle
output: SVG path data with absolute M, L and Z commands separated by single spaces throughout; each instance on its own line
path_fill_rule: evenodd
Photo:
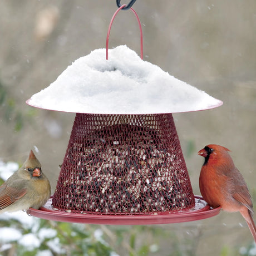
M 142 33 L 140 57 L 126 46 L 108 50 L 107 37 L 106 49 L 73 62 L 27 104 L 76 113 L 56 191 L 31 215 L 163 224 L 219 213 L 193 194 L 172 113 L 222 102 L 143 61 Z

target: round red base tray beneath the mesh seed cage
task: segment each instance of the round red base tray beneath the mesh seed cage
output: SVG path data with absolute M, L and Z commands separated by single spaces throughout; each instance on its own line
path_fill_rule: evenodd
M 194 221 L 213 217 L 220 212 L 220 207 L 211 209 L 201 196 L 195 195 L 195 207 L 189 211 L 178 213 L 160 214 L 139 214 L 139 215 L 99 215 L 99 214 L 80 214 L 66 213 L 52 209 L 52 198 L 39 210 L 29 208 L 28 214 L 37 218 L 88 224 L 109 224 L 109 225 L 149 225 L 149 224 L 168 224 Z

